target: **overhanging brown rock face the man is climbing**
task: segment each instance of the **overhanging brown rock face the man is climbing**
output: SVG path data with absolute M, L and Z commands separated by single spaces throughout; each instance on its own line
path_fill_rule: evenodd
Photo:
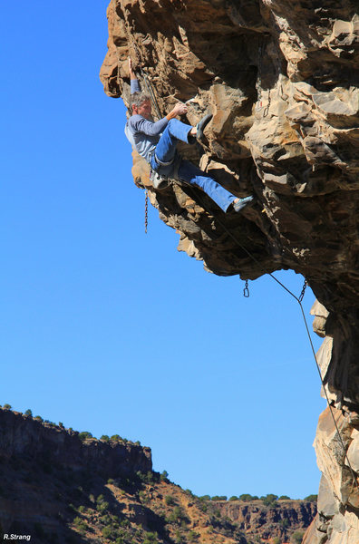
M 321 494 L 326 503 L 331 493 L 337 511 L 323 510 L 306 541 L 357 543 L 357 1 L 112 0 L 108 20 L 105 92 L 128 104 L 130 54 L 160 114 L 189 99 L 190 124 L 213 113 L 207 141 L 184 151 L 187 158 L 234 194 L 256 195 L 241 217 L 225 215 L 179 182 L 151 188 L 135 156 L 133 177 L 150 190 L 160 219 L 179 231 L 179 249 L 223 276 L 292 268 L 320 303 L 318 357 L 343 439 L 338 444 L 325 413 L 315 447 Z

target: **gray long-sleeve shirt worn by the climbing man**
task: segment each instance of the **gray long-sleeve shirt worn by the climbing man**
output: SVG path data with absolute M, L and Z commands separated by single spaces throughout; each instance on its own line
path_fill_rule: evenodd
M 141 92 L 139 81 L 131 80 L 131 94 Z M 134 148 L 141 157 L 150 162 L 150 155 L 156 148 L 160 135 L 167 126 L 168 119 L 163 117 L 160 121 L 149 121 L 142 115 L 132 115 L 126 122 L 125 134 Z

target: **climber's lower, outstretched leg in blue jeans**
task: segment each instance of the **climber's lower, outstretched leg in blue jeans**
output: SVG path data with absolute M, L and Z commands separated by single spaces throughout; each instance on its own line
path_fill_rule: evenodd
M 196 185 L 202 189 L 223 211 L 227 211 L 233 201 L 238 200 L 238 197 L 224 189 L 216 180 L 210 178 L 209 174 L 199 170 L 189 160 L 181 161 L 178 177 L 179 180 L 187 181 L 190 185 Z

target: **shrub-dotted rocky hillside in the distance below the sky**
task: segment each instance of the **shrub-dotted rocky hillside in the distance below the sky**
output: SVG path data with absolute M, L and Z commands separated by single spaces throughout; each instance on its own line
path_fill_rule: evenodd
M 4 409 L 0 478 L 1 536 L 35 543 L 285 542 L 315 516 L 307 501 L 199 499 L 152 471 L 149 448 Z

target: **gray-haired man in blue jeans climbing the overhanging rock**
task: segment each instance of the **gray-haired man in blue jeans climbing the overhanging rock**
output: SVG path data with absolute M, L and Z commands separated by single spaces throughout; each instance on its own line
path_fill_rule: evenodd
M 140 83 L 129 58 L 131 77 L 131 117 L 126 123 L 125 134 L 132 148 L 150 164 L 160 176 L 183 180 L 202 189 L 223 211 L 239 212 L 253 202 L 253 197 L 238 199 L 224 189 L 208 173 L 199 170 L 189 160 L 182 159 L 176 151 L 178 141 L 193 144 L 200 141 L 212 115 L 208 114 L 192 127 L 176 119 L 187 112 L 187 106 L 178 102 L 166 117 L 152 121 L 150 96 L 141 92 Z

